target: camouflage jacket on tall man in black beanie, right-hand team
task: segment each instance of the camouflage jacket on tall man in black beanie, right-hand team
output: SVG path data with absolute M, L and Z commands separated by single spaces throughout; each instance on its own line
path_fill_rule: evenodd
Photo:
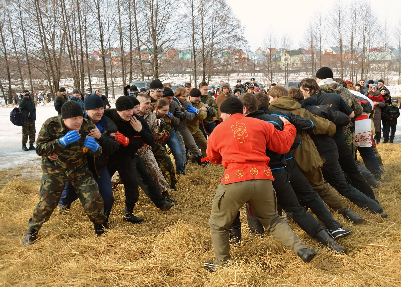
M 363 107 L 360 105 L 358 100 L 348 91 L 347 88 L 342 86 L 342 84 L 338 84 L 337 82 L 332 81 L 332 79 L 324 79 L 319 83 L 320 88 L 323 92 L 326 93 L 334 93 L 339 94 L 343 100 L 347 103 L 349 107 L 354 111 L 354 118 L 356 119 L 363 113 Z M 348 125 L 343 127 L 344 133 L 350 131 L 350 128 L 354 125 L 354 121 L 351 121 Z

